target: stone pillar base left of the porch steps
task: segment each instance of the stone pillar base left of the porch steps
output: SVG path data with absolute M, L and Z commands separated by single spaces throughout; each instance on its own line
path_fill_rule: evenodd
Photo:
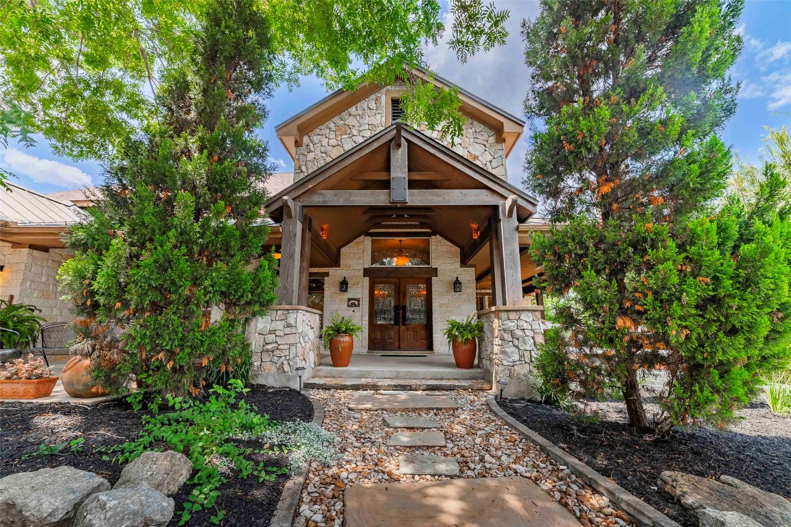
M 294 369 L 305 367 L 303 380 L 310 378 L 319 363 L 320 311 L 300 306 L 273 306 L 263 317 L 248 324 L 252 343 L 255 384 L 298 387 Z

